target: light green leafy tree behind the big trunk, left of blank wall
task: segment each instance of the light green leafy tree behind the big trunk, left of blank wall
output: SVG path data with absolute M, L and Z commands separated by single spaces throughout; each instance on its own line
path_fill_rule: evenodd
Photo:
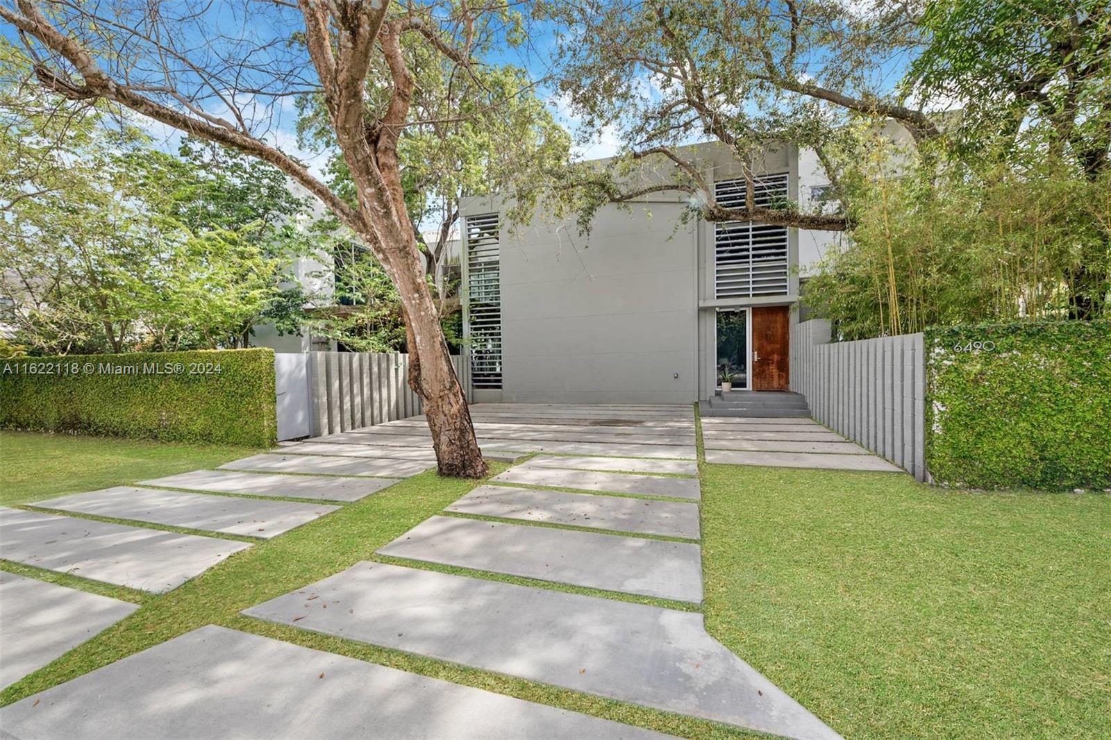
M 479 56 L 493 52 L 502 29 L 484 23 L 472 32 Z M 458 279 L 444 274 L 459 239 L 462 199 L 509 194 L 530 183 L 534 172 L 561 167 L 570 137 L 534 92 L 528 72 L 511 63 L 462 69 L 419 37 L 402 39 L 413 71 L 410 124 L 398 140 L 409 219 L 424 254 L 426 270 L 442 323 L 459 314 Z M 373 69 L 371 77 L 374 76 Z M 328 184 L 353 202 L 356 189 L 319 94 L 298 101 L 303 147 L 329 153 Z M 406 342 L 397 290 L 371 254 L 353 249 L 338 224 L 319 224 L 336 241 L 336 297 L 340 306 L 313 312 L 314 333 L 360 351 L 398 351 Z M 458 244 L 458 241 L 454 241 Z M 440 274 L 441 280 L 437 279 Z M 398 331 L 400 329 L 400 332 Z M 449 343 L 458 332 L 448 331 Z M 452 337 L 456 334 L 456 337 Z

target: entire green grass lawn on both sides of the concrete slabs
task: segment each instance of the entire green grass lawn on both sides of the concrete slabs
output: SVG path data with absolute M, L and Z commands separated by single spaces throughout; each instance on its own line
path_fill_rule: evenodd
M 0 490 L 19 504 L 251 451 L 3 433 Z M 708 628 L 845 737 L 1095 738 L 1111 727 L 1111 496 L 965 493 L 899 474 L 705 464 L 702 484 Z M 0 704 L 218 623 L 673 734 L 750 737 L 239 616 L 376 559 L 473 486 L 416 476 L 158 597 L 0 562 L 142 604 L 0 693 Z

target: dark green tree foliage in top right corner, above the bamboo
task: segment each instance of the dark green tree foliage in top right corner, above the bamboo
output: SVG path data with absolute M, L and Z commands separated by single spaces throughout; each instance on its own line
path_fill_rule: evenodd
M 1103 0 L 934 0 L 902 82 L 948 100 L 965 151 L 1011 162 L 1049 153 L 1090 176 L 1111 147 L 1111 16 Z

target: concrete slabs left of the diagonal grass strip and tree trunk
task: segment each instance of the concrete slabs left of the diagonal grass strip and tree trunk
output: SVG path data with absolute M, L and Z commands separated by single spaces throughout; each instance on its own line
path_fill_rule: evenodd
M 142 487 L 73 493 L 19 509 L 0 507 L 0 559 L 164 593 L 254 542 L 434 464 L 288 457 L 294 464 L 282 464 L 287 456 L 254 456 L 222 466 L 230 470 L 194 470 L 141 481 Z M 387 474 L 396 477 L 380 477 Z M 0 689 L 136 609 L 138 604 L 128 601 L 0 571 Z

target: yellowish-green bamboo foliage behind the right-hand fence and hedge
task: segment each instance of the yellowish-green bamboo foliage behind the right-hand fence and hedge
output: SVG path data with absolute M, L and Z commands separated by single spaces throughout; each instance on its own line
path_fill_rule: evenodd
M 843 338 L 1108 316 L 1111 172 L 865 149 L 845 179 L 857 228 L 805 287 Z

